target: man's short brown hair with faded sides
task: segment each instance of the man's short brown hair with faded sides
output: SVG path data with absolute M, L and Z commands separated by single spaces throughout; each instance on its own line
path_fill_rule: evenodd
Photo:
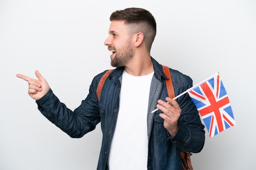
M 148 52 L 150 51 L 157 26 L 155 18 L 149 11 L 141 8 L 118 10 L 110 15 L 110 21 L 112 20 L 123 20 L 128 25 L 130 34 L 143 33 L 146 48 Z

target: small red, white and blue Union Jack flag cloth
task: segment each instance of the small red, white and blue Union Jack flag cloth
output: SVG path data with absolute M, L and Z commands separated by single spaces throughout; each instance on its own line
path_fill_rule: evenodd
M 210 137 L 234 126 L 235 119 L 225 87 L 217 74 L 189 91 Z

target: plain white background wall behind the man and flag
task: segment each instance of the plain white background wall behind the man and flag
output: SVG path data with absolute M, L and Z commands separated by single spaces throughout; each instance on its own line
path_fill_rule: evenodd
M 0 170 L 95 170 L 100 125 L 72 139 L 37 110 L 27 95 L 35 70 L 61 102 L 74 110 L 92 78 L 112 68 L 104 46 L 109 16 L 141 7 L 157 22 L 151 55 L 191 76 L 215 72 L 229 94 L 236 126 L 209 138 L 191 157 L 195 170 L 256 167 L 254 0 L 0 0 Z

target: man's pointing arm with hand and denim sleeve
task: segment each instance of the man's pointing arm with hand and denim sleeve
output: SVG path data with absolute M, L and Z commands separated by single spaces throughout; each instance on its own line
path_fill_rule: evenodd
M 36 100 L 38 109 L 43 116 L 70 135 L 70 137 L 82 137 L 85 133 L 95 129 L 95 126 L 99 123 L 98 100 L 96 90 L 92 86 L 88 95 L 90 97 L 83 100 L 81 105 L 72 111 L 58 100 L 47 81 L 38 71 L 36 71 L 38 80 L 22 74 L 17 74 L 16 76 L 28 82 L 28 94 Z

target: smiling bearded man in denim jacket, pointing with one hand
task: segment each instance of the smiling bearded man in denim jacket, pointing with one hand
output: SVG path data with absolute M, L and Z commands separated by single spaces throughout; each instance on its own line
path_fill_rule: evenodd
M 177 100 L 167 97 L 162 65 L 150 57 L 155 19 L 145 9 L 128 8 L 112 13 L 110 21 L 105 45 L 116 68 L 100 100 L 96 90 L 106 71 L 94 77 L 87 98 L 74 111 L 58 100 L 38 71 L 38 80 L 17 77 L 28 81 L 29 96 L 40 112 L 70 137 L 82 137 L 101 122 L 97 169 L 182 170 L 179 150 L 200 152 L 204 126 L 188 94 Z M 170 71 L 176 96 L 192 86 L 189 76 Z

